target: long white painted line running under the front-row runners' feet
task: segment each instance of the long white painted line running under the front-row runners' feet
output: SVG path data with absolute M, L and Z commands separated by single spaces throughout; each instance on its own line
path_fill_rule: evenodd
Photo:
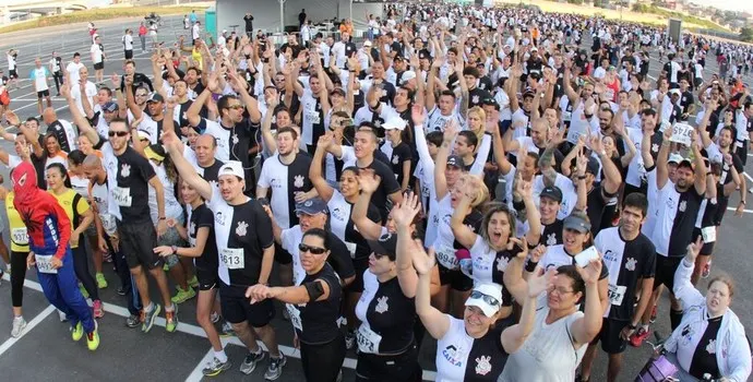
M 5 274 L 5 275 L 3 276 L 3 278 L 10 279 L 10 276 L 9 276 L 8 274 Z M 26 280 L 24 282 L 24 286 L 27 287 L 27 288 L 34 289 L 34 290 L 41 291 L 41 285 L 39 285 L 39 283 L 37 283 L 37 282 L 33 282 L 33 280 L 26 279 Z M 128 318 L 129 315 L 131 315 L 131 313 L 128 311 L 128 309 L 125 309 L 125 308 L 123 308 L 123 307 L 120 307 L 120 306 L 117 306 L 117 305 L 113 305 L 113 303 L 109 303 L 109 302 L 105 302 L 105 303 L 103 303 L 103 306 L 104 306 L 106 312 L 109 312 L 109 313 L 112 313 L 112 314 L 117 314 L 117 315 L 120 315 L 120 317 L 123 317 L 123 318 Z M 49 315 L 49 314 L 55 310 L 55 307 L 49 306 L 47 309 L 49 309 L 49 312 L 47 312 L 47 310 L 45 310 L 45 312 L 47 312 L 47 315 Z M 44 313 L 44 312 L 43 312 L 43 313 Z M 37 318 L 38 318 L 38 317 L 37 317 Z M 35 318 L 34 320 L 36 320 L 37 318 Z M 32 321 L 34 321 L 34 320 L 32 320 Z M 41 320 L 44 320 L 44 318 L 41 318 L 39 321 L 41 321 Z M 165 319 L 162 318 L 162 317 L 158 317 L 158 318 L 155 320 L 154 324 L 157 325 L 157 326 L 163 326 L 163 327 L 165 327 Z M 29 322 L 29 326 L 31 326 L 31 322 Z M 28 326 L 27 326 L 27 330 L 28 330 Z M 201 329 L 201 326 L 196 326 L 196 325 L 187 324 L 187 323 L 181 322 L 181 323 L 178 324 L 177 331 L 178 331 L 178 332 L 182 332 L 182 333 L 187 333 L 187 334 L 191 334 L 191 335 L 195 335 L 195 336 L 198 336 L 198 337 L 206 338 L 206 334 L 204 333 L 204 330 Z M 13 338 L 11 338 L 11 339 L 13 339 Z M 9 341 L 10 341 L 10 339 L 9 339 Z M 229 338 L 222 338 L 222 341 L 223 341 L 223 345 L 232 344 L 232 345 L 236 345 L 236 346 L 246 347 L 246 345 L 243 345 L 243 344 L 240 342 L 240 339 L 238 339 L 238 337 L 235 337 L 235 336 L 234 336 L 234 337 L 229 337 Z M 3 344 L 3 345 L 4 345 L 4 344 Z M 12 344 L 11 344 L 11 345 L 12 345 Z M 266 350 L 266 347 L 264 346 L 264 344 L 263 344 L 261 341 L 259 342 L 259 346 L 261 346 L 264 350 Z M 289 357 L 292 357 L 292 358 L 299 358 L 299 359 L 300 359 L 300 357 L 301 357 L 301 356 L 300 356 L 300 351 L 298 351 L 298 349 L 296 349 L 296 348 L 294 348 L 294 347 L 285 346 L 285 345 L 279 345 L 278 347 L 279 347 L 279 350 L 280 350 L 280 351 L 285 353 L 285 356 L 289 356 Z M 2 353 L 0 353 L 0 354 L 2 354 Z M 206 356 L 205 356 L 205 357 L 206 357 Z M 203 361 L 203 358 L 202 358 L 202 361 Z M 204 363 L 205 363 L 205 362 L 204 362 Z M 201 363 L 201 365 L 204 365 L 204 363 Z M 356 370 L 356 363 L 357 363 L 357 360 L 356 360 L 356 359 L 347 358 L 347 357 L 346 357 L 346 358 L 345 358 L 345 361 L 343 362 L 343 367 L 344 367 L 344 368 L 348 368 L 348 369 Z M 194 371 L 195 371 L 195 370 L 194 370 Z M 201 370 L 200 370 L 200 373 L 201 373 Z M 193 374 L 193 373 L 192 373 L 192 374 Z M 190 377 L 190 375 L 189 375 L 189 377 Z M 437 372 L 430 371 L 430 370 L 423 370 L 423 380 L 425 380 L 425 381 L 434 381 L 434 380 L 437 380 Z M 189 380 L 187 379 L 187 381 L 189 381 Z M 194 381 L 195 381 L 195 380 L 194 380 Z

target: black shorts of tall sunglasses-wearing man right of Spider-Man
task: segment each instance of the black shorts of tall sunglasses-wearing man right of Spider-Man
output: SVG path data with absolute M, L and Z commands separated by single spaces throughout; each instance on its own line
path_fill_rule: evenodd
M 118 223 L 118 237 L 120 238 L 120 251 L 125 255 L 128 267 L 140 265 L 147 270 L 163 266 L 163 258 L 154 253 L 157 247 L 157 231 L 152 222 L 143 224 Z

